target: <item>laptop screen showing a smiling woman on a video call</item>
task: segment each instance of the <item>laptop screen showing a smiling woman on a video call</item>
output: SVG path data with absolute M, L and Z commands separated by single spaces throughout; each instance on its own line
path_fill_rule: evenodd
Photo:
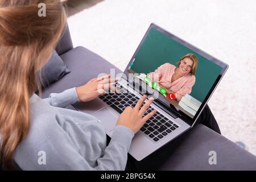
M 228 65 L 151 24 L 125 70 L 162 105 L 193 122 Z M 149 88 L 149 89 L 148 89 Z

